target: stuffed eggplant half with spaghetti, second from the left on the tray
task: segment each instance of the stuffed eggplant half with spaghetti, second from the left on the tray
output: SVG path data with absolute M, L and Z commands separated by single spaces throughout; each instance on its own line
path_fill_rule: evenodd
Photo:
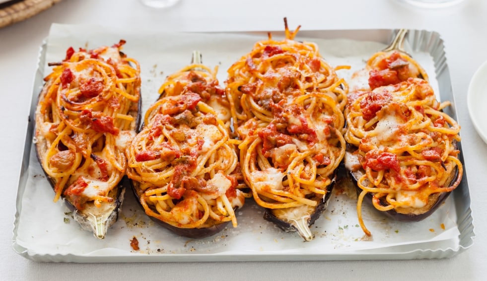
M 135 195 L 145 213 L 176 234 L 203 238 L 237 226 L 248 194 L 228 101 L 216 69 L 192 64 L 170 75 L 127 147 Z

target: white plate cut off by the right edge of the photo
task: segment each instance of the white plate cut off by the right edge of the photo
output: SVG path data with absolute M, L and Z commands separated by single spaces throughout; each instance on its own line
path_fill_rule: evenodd
M 474 127 L 487 143 L 487 61 L 472 77 L 467 94 L 467 106 Z

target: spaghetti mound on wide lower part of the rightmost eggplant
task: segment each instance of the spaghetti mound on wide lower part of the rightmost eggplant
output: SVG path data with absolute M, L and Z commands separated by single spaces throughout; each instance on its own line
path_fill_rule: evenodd
M 347 152 L 346 166 L 357 174 L 357 211 L 367 235 L 360 211 L 366 194 L 380 211 L 416 215 L 460 183 L 460 126 L 441 111 L 445 105 L 419 78 L 353 93 L 345 139 L 356 150 Z

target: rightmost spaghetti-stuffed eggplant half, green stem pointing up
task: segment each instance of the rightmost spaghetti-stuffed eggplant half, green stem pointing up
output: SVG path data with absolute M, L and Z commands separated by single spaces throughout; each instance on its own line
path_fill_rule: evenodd
M 363 201 L 405 222 L 431 215 L 462 179 L 460 126 L 443 112 L 428 75 L 402 49 L 408 30 L 372 55 L 350 79 L 345 110 L 348 179 Z

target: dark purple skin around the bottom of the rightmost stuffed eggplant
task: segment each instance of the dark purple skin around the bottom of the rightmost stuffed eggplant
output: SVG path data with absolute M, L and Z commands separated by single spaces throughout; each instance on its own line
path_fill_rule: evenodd
M 454 146 L 457 147 L 456 142 L 454 143 Z M 348 146 L 347 149 L 351 149 L 351 146 Z M 360 178 L 360 172 L 361 171 L 349 171 L 345 168 L 345 165 L 343 164 L 344 161 L 342 161 L 342 164 L 339 167 L 339 174 L 340 174 L 340 184 L 352 184 L 356 191 L 357 195 L 362 192 L 362 189 L 358 187 L 357 185 L 357 180 Z M 454 174 L 451 176 L 451 180 L 449 181 L 448 185 L 451 185 L 453 182 L 457 180 L 457 177 L 459 176 L 458 174 L 458 168 L 455 169 Z M 428 204 L 428 209 L 427 210 L 418 210 L 417 212 L 410 212 L 410 213 L 400 213 L 396 211 L 395 209 L 389 210 L 389 211 L 379 211 L 378 212 L 384 214 L 386 217 L 395 220 L 395 221 L 400 221 L 400 222 L 419 222 L 427 217 L 429 217 L 431 214 L 434 213 L 450 196 L 450 192 L 442 192 L 442 193 L 437 193 L 437 194 L 432 194 L 430 195 L 429 201 L 431 202 Z M 367 193 L 363 199 L 364 202 L 367 202 L 372 205 L 372 198 L 373 194 L 372 193 Z M 385 202 L 381 201 L 382 206 L 387 206 Z M 374 208 L 375 209 L 375 208 Z

